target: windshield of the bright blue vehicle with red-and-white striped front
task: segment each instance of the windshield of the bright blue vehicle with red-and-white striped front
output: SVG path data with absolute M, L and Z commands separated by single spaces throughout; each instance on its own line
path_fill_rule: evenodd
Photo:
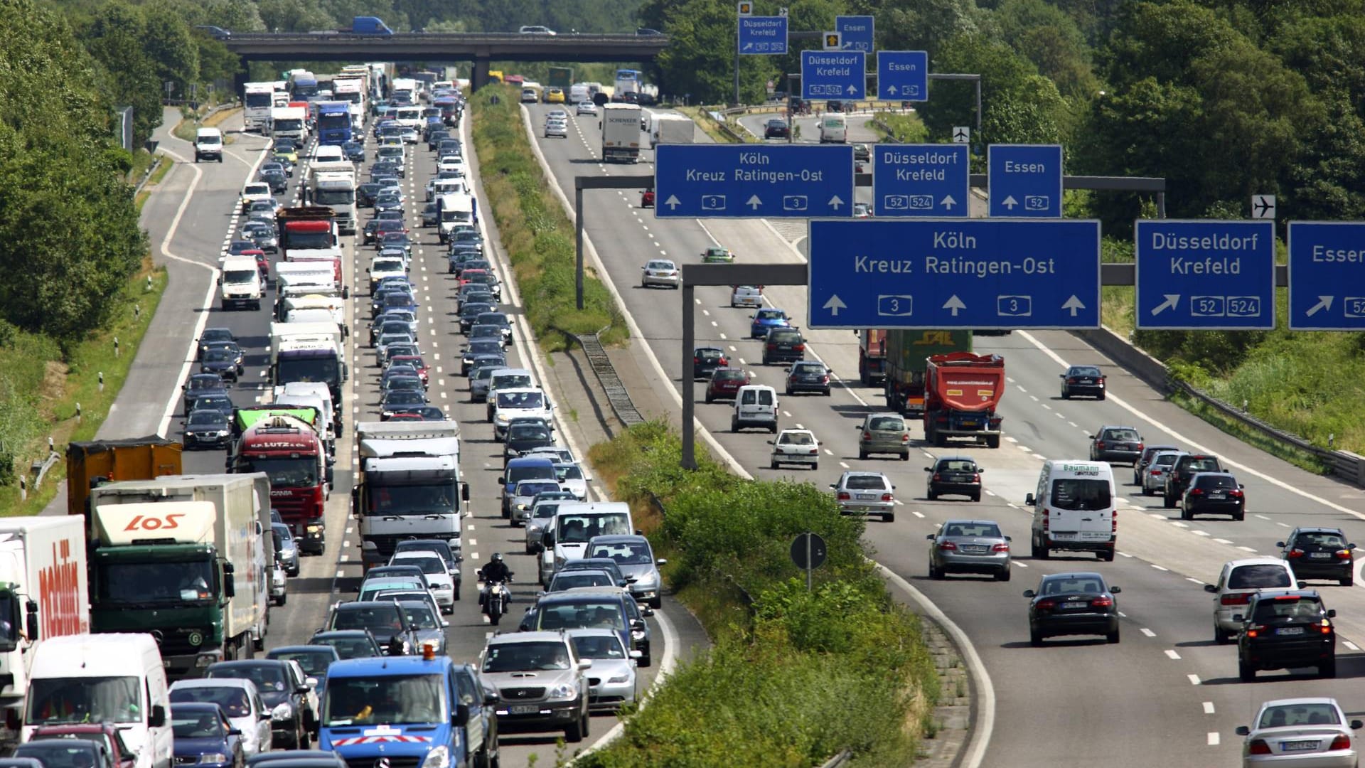
M 322 698 L 322 724 L 444 723 L 445 691 L 441 675 L 333 678 Z

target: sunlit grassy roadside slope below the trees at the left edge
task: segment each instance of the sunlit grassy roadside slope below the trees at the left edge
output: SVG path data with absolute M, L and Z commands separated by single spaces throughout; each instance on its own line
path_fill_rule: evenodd
M 152 277 L 149 287 L 147 277 Z M 27 502 L 19 500 L 18 484 L 0 485 L 0 515 L 35 515 L 66 481 L 66 462 L 59 461 L 33 488 L 33 461 L 46 456 L 51 436 L 57 454 L 66 454 L 72 440 L 90 440 L 109 415 L 138 354 L 142 336 L 156 314 L 167 287 L 167 272 L 152 257 L 124 286 L 109 323 L 89 339 L 74 344 L 66 355 L 57 343 L 37 333 L 15 332 L 0 339 L 0 420 L 18 445 L 15 470 L 27 474 Z M 115 354 L 113 339 L 119 339 Z M 104 387 L 100 387 L 104 372 Z M 76 406 L 81 417 L 76 417 Z

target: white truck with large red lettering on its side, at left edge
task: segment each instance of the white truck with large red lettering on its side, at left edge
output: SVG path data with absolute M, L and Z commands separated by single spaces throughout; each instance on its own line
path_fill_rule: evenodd
M 0 707 L 7 742 L 44 642 L 90 631 L 85 518 L 0 518 Z

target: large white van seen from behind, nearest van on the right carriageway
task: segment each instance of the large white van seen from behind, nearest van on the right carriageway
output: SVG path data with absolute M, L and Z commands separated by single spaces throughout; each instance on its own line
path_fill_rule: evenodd
M 1052 549 L 1095 552 L 1114 559 L 1118 515 L 1114 469 L 1107 462 L 1050 459 L 1037 476 L 1037 491 L 1024 503 L 1033 507 L 1033 556 Z

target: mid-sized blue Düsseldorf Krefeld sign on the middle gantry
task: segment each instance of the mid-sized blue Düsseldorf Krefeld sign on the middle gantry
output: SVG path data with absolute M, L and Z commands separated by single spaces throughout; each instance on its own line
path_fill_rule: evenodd
M 872 148 L 872 215 L 968 216 L 969 174 L 965 143 L 879 143 Z

